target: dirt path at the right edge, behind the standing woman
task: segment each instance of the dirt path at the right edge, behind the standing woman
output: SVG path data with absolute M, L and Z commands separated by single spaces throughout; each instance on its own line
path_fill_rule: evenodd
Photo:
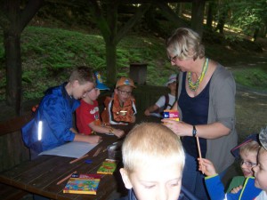
M 231 71 L 240 68 L 253 68 L 254 66 L 267 69 L 267 53 L 248 55 L 237 58 L 237 61 L 226 68 Z M 263 92 L 247 89 L 237 84 L 236 94 L 236 128 L 239 141 L 247 135 L 260 132 L 267 125 L 267 89 Z

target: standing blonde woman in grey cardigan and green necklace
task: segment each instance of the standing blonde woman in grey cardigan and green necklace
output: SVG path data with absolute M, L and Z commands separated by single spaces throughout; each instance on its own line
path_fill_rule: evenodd
M 198 33 L 178 28 L 166 41 L 166 51 L 173 66 L 178 67 L 177 102 L 181 122 L 163 119 L 166 126 L 182 137 L 186 163 L 182 185 L 208 199 L 203 174 L 198 172 L 199 138 L 201 156 L 211 160 L 221 176 L 233 163 L 231 148 L 237 145 L 235 130 L 236 84 L 231 72 L 205 56 Z M 177 108 L 177 102 L 174 108 Z

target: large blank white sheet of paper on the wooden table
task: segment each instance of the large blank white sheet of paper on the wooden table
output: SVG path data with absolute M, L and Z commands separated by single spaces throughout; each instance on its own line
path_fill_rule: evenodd
M 92 150 L 97 144 L 89 144 L 82 141 L 71 141 L 60 147 L 43 151 L 39 155 L 53 155 L 53 156 L 65 156 L 75 157 L 84 156 L 87 152 Z

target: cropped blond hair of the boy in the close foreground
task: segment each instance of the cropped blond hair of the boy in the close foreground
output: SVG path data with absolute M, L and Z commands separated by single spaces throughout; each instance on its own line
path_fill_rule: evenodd
M 142 123 L 134 126 L 123 143 L 125 171 L 134 172 L 151 161 L 177 161 L 184 166 L 185 156 L 179 137 L 163 124 Z

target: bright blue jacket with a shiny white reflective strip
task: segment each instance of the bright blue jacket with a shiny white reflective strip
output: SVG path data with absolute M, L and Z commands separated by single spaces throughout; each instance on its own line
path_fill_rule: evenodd
M 74 140 L 75 133 L 69 129 L 73 127 L 72 113 L 80 102 L 69 96 L 65 89 L 66 84 L 48 89 L 34 118 L 21 129 L 25 145 L 37 153 Z M 39 121 L 43 123 L 40 141 L 37 138 Z

